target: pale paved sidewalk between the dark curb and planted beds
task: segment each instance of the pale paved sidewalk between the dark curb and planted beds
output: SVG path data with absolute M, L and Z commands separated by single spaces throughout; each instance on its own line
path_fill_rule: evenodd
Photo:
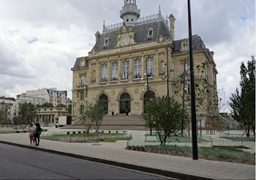
M 0 134 L 0 142 L 30 146 L 28 133 Z M 40 140 L 39 150 L 64 154 L 98 163 L 117 165 L 151 173 L 162 173 L 178 179 L 255 179 L 255 165 L 225 163 L 210 160 L 192 160 L 165 154 L 125 150 L 126 141 L 116 143 L 70 144 L 58 141 Z

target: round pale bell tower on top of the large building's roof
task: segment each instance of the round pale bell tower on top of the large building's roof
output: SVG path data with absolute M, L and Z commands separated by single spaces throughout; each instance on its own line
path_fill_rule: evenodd
M 140 17 L 140 9 L 136 5 L 136 0 L 124 0 L 124 7 L 120 11 L 120 17 L 127 26 L 134 26 Z

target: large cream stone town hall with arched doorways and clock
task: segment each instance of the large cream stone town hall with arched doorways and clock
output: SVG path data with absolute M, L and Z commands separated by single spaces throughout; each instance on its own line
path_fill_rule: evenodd
M 140 15 L 137 6 L 131 4 L 136 5 L 136 1 L 124 1 L 121 17 L 132 18 L 130 15 L 135 15 L 137 18 Z M 136 9 L 132 9 L 132 14 L 125 15 L 129 13 L 128 5 Z M 136 23 L 104 25 L 102 34 L 97 31 L 96 44 L 89 56 L 78 58 L 72 68 L 74 117 L 83 113 L 86 101 L 99 101 L 108 115 L 112 112 L 140 115 L 148 96 L 152 100 L 156 96 L 167 95 L 167 63 L 169 70 L 173 70 L 169 73 L 170 96 L 181 101 L 175 92 L 183 90 L 180 75 L 189 74 L 186 65 L 189 63 L 189 39 L 175 40 L 175 20 L 170 15 L 169 28 L 168 20 L 162 17 L 159 9 L 157 15 L 141 17 L 136 19 Z M 192 39 L 195 67 L 207 63 L 208 83 L 216 90 L 214 52 L 206 48 L 200 36 L 193 36 Z M 189 87 L 186 90 L 189 91 Z M 216 109 L 212 110 L 217 113 Z M 200 114 L 206 113 L 202 110 Z

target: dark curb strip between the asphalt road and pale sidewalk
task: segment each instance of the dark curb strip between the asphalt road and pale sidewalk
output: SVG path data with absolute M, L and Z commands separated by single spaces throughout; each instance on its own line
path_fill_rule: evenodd
M 193 176 L 193 175 L 189 175 L 189 174 L 185 174 L 185 173 L 176 173 L 176 172 L 171 172 L 171 171 L 165 171 L 165 170 L 160 170 L 160 169 L 155 169 L 155 168 L 146 168 L 140 165 L 131 165 L 131 164 L 127 164 L 127 163 L 118 163 L 112 160 L 103 160 L 103 159 L 99 159 L 96 157 L 87 157 L 87 156 L 83 156 L 83 155 L 78 155 L 78 154 L 72 154 L 72 153 L 67 153 L 67 152 L 58 152 L 55 150 L 50 150 L 50 149 L 43 149 L 40 147 L 35 147 L 35 146 L 27 146 L 27 145 L 23 145 L 23 144 L 15 144 L 15 143 L 11 143 L 11 142 L 7 142 L 7 141 L 0 141 L 1 144 L 7 144 L 7 145 L 11 145 L 11 146 L 19 146 L 19 147 L 23 147 L 26 149 L 34 149 L 40 152 L 48 152 L 48 153 L 52 153 L 52 154 L 59 154 L 59 155 L 63 155 L 66 157 L 74 157 L 80 160 L 88 160 L 91 162 L 95 162 L 95 163 L 102 163 L 102 164 L 107 164 L 107 165 L 113 165 L 116 167 L 121 167 L 121 168 L 127 168 L 127 169 L 132 169 L 135 171 L 142 171 L 142 172 L 146 172 L 146 173 L 154 173 L 157 175 L 161 175 L 161 176 L 167 176 L 170 178 L 175 178 L 175 179 L 185 179 L 185 180 L 211 180 L 209 178 L 204 178 L 204 177 L 200 177 L 200 176 Z

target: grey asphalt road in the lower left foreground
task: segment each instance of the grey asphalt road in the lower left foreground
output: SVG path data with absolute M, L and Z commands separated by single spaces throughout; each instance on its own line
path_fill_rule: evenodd
M 0 144 L 0 179 L 166 179 L 33 149 Z

